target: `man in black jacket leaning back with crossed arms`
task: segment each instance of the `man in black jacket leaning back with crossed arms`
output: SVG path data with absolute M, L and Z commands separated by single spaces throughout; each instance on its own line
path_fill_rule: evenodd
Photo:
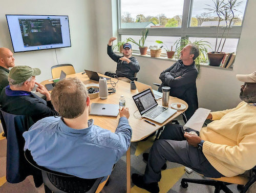
M 178 97 L 187 102 L 188 109 L 185 111 L 187 120 L 198 109 L 196 87 L 198 70 L 194 61 L 198 56 L 198 47 L 194 44 L 188 44 L 181 51 L 180 60 L 164 70 L 159 77 L 162 80 L 158 89 L 159 92 L 162 91 L 163 86 L 168 86 L 170 87 L 170 96 Z

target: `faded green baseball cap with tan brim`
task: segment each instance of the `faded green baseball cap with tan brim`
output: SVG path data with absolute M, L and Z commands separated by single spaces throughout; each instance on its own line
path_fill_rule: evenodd
M 15 82 L 13 82 L 14 84 L 19 84 L 26 81 L 31 76 L 38 76 L 40 74 L 41 71 L 38 68 L 30 68 L 28 66 L 15 66 L 10 70 L 8 77 L 15 80 Z

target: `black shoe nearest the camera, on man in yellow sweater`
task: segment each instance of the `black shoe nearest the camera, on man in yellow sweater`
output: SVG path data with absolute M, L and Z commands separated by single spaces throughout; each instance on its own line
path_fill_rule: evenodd
M 153 182 L 150 184 L 146 184 L 143 182 L 143 176 L 138 175 L 138 174 L 133 174 L 132 175 L 132 181 L 133 183 L 140 187 L 143 188 L 151 193 L 158 193 L 159 192 L 159 187 L 157 182 Z

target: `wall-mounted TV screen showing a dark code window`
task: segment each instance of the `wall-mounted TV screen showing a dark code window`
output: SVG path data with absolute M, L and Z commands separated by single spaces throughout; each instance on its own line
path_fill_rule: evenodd
M 14 52 L 71 47 L 67 15 L 6 15 Z

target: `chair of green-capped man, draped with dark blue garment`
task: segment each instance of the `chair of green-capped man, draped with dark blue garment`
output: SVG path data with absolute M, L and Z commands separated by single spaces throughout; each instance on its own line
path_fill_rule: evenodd
M 42 184 L 41 172 L 32 167 L 24 157 L 25 139 L 22 134 L 34 123 L 31 117 L 13 115 L 0 109 L 1 122 L 7 139 L 6 179 L 18 183 L 33 175 L 35 186 Z

